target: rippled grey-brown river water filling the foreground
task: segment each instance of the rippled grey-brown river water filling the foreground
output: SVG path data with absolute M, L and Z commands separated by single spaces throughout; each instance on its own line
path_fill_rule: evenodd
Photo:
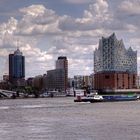
M 0 140 L 140 140 L 140 101 L 0 100 Z

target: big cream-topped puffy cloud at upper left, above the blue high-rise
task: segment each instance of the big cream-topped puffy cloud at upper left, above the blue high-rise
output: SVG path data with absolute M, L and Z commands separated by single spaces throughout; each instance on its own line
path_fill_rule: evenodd
M 32 5 L 20 9 L 23 18 L 18 23 L 17 34 L 38 35 L 44 33 L 60 32 L 58 29 L 58 16 L 51 9 L 43 5 Z

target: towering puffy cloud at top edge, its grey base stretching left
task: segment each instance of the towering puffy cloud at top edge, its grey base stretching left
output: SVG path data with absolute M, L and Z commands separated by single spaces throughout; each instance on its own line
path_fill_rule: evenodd
M 59 27 L 62 30 L 80 30 L 91 31 L 100 30 L 107 27 L 112 22 L 112 14 L 109 12 L 109 5 L 105 0 L 96 0 L 85 10 L 82 18 L 72 18 L 63 16 L 60 19 Z M 108 26 L 109 27 L 109 26 Z

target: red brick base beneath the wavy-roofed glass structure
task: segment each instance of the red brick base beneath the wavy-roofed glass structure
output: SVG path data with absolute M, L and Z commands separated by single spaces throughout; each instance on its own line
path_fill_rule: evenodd
M 137 74 L 125 72 L 102 72 L 94 74 L 94 88 L 106 89 L 134 89 Z

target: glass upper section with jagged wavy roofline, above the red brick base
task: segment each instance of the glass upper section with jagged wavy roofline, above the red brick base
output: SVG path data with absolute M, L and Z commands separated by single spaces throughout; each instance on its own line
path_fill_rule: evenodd
M 137 51 L 125 48 L 123 40 L 117 40 L 115 33 L 99 41 L 94 51 L 94 72 L 137 73 Z

